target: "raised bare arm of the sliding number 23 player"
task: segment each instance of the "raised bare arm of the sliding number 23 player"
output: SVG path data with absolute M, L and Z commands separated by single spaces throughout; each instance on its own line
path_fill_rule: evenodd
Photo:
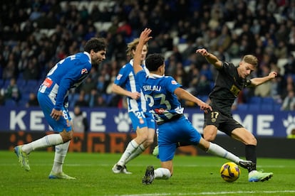
M 143 67 L 140 66 L 140 56 L 141 56 L 141 51 L 143 50 L 143 45 L 148 42 L 152 37 L 150 37 L 150 33 L 152 30 L 150 28 L 145 28 L 143 32 L 140 33 L 140 40 L 138 43 L 138 46 L 136 47 L 135 50 L 135 55 L 133 58 L 133 69 L 135 72 L 135 75 L 140 71 L 143 70 Z

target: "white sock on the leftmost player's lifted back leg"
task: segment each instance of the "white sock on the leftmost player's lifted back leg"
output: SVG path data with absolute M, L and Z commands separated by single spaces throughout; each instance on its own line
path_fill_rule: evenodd
M 43 138 L 39 138 L 36 141 L 32 141 L 31 143 L 24 144 L 24 146 L 21 147 L 21 151 L 29 154 L 31 151 L 35 151 L 40 148 L 56 146 L 61 143 L 63 143 L 63 138 L 60 134 L 50 134 L 48 136 L 43 136 Z

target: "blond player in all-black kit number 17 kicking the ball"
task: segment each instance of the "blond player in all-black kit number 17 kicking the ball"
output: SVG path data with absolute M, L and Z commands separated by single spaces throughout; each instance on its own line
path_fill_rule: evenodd
M 204 56 L 218 70 L 214 88 L 209 94 L 212 111 L 205 113 L 203 130 L 205 140 L 214 141 L 217 130 L 219 130 L 237 141 L 241 141 L 245 145 L 246 159 L 255 163 L 255 167 L 248 169 L 249 182 L 269 180 L 273 173 L 262 173 L 256 170 L 257 139 L 250 131 L 233 119 L 231 107 L 234 99 L 237 98 L 237 95 L 244 87 L 262 85 L 264 82 L 276 77 L 276 72 L 270 72 L 266 77 L 255 77 L 248 80 L 247 77 L 255 70 L 258 63 L 254 55 L 245 55 L 242 61 L 239 62 L 239 66 L 236 67 L 232 63 L 219 60 L 204 48 L 196 50 L 196 53 Z

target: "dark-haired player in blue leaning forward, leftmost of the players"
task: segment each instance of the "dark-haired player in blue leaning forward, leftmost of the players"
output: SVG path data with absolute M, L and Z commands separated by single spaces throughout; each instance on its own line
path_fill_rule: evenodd
M 81 85 L 88 77 L 91 67 L 105 60 L 104 38 L 91 38 L 83 53 L 76 53 L 60 60 L 46 75 L 38 89 L 38 102 L 45 119 L 56 134 L 49 134 L 31 143 L 16 146 L 14 152 L 24 170 L 29 171 L 29 154 L 41 148 L 55 146 L 56 152 L 50 179 L 76 179 L 63 173 L 63 161 L 73 138 L 71 116 L 68 113 L 68 92 Z

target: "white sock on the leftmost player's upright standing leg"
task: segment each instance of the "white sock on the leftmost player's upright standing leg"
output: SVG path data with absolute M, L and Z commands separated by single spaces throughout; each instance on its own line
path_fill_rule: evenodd
M 66 153 L 68 153 L 68 146 L 70 145 L 70 141 L 66 143 L 59 144 L 56 146 L 56 153 L 54 155 L 53 173 L 62 173 L 63 172 L 63 160 L 66 158 Z

